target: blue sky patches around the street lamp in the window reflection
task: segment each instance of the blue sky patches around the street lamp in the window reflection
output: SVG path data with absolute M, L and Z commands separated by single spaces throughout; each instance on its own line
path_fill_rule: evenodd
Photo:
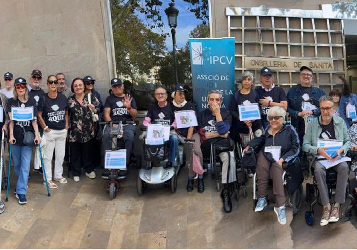
M 167 50 L 172 50 L 172 38 L 171 38 L 171 29 L 167 22 L 167 16 L 165 14 L 165 9 L 169 7 L 169 0 L 163 0 L 163 4 L 160 9 L 160 14 L 162 16 L 162 20 L 164 21 L 164 31 L 165 33 L 169 33 L 170 35 L 166 38 L 166 47 Z M 190 7 L 190 4 L 185 3 L 182 0 L 175 1 L 175 8 L 178 9 L 177 16 L 177 28 L 176 28 L 176 45 L 177 48 L 182 48 L 185 46 L 188 41 L 188 35 L 190 31 L 193 30 L 197 24 L 202 23 L 200 20 L 196 19 L 195 14 L 187 10 L 187 7 Z M 146 20 L 144 15 L 137 13 L 138 17 L 144 21 L 146 24 Z M 159 33 L 157 30 L 153 30 L 156 33 Z

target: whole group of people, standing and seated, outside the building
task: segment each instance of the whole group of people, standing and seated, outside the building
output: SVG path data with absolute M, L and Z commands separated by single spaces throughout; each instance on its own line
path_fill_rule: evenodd
M 207 94 L 208 107 L 197 115 L 198 126 L 177 129 L 175 112 L 195 110 L 195 106 L 186 100 L 187 90 L 177 84 L 171 93 L 172 103 L 168 101 L 168 93 L 163 87 L 155 90 L 156 103 L 149 107 L 143 125 L 159 123 L 170 125 L 169 156 L 167 167 L 171 167 L 175 160 L 180 139 L 194 139 L 185 144 L 188 181 L 186 189 L 194 189 L 196 173 L 193 171 L 193 155 L 200 159 L 209 154 L 211 142 L 230 148 L 227 152 L 219 152 L 222 161 L 221 192 L 223 209 L 231 212 L 230 185 L 237 180 L 236 160 L 233 147 L 240 142 L 245 153 L 250 147 L 257 152 L 256 175 L 258 183 L 258 201 L 255 211 L 261 211 L 267 205 L 267 187 L 269 176 L 273 179 L 275 208 L 279 223 L 286 223 L 285 192 L 282 183 L 282 164 L 291 162 L 302 155 L 302 151 L 314 156 L 321 155 L 328 160 L 335 160 L 326 153 L 325 147 L 318 147 L 318 139 L 336 139 L 342 141 L 342 147 L 337 155 L 346 155 L 349 150 L 357 150 L 357 125 L 351 126 L 351 119 L 346 108 L 357 107 L 357 96 L 352 94 L 347 82 L 344 81 L 342 94 L 333 89 L 325 95 L 322 89 L 312 86 L 313 70 L 307 66 L 300 68 L 300 83 L 291 87 L 287 94 L 274 84 L 273 72 L 268 67 L 260 70 L 261 86 L 254 88 L 254 76 L 245 71 L 241 76 L 241 87 L 236 90 L 231 99 L 229 110 L 221 110 L 223 97 L 221 91 L 210 90 Z M 18 77 L 15 80 L 10 72 L 5 73 L 5 88 L 0 90 L 0 104 L 3 107 L 3 121 L 0 126 L 9 134 L 12 145 L 12 159 L 14 171 L 17 175 L 16 198 L 20 204 L 26 203 L 27 180 L 29 178 L 32 146 L 40 144 L 43 151 L 47 184 L 50 188 L 57 188 L 57 181 L 66 184 L 62 176 L 63 161 L 66 151 L 66 141 L 69 142 L 71 154 L 71 170 L 74 181 L 80 180 L 81 168 L 86 176 L 93 179 L 95 167 L 102 164 L 104 152 L 110 150 L 112 137 L 110 127 L 100 130 L 95 115 L 103 114 L 106 122 L 118 123 L 123 121 L 123 140 L 126 149 L 126 162 L 130 163 L 130 156 L 134 149 L 136 126 L 126 123 L 137 117 L 135 99 L 125 94 L 124 84 L 118 78 L 110 81 L 111 94 L 102 105 L 100 95 L 94 90 L 95 79 L 91 76 L 75 78 L 71 88 L 65 84 L 65 75 L 57 73 L 47 77 L 47 91 L 41 89 L 42 73 L 33 70 L 30 82 Z M 238 106 L 258 104 L 261 119 L 241 120 Z M 13 108 L 31 107 L 31 119 L 27 121 L 14 119 Z M 16 109 L 14 109 L 16 110 Z M 16 110 L 17 112 L 17 110 Z M 287 112 L 291 124 L 286 122 Z M 38 121 L 38 122 L 37 122 Z M 33 133 L 33 143 L 25 139 L 27 131 Z M 25 138 L 26 137 L 26 138 Z M 102 149 L 96 140 L 102 139 Z M 351 142 L 352 140 L 352 142 Z M 231 147 L 229 147 L 231 146 Z M 271 157 L 270 147 L 279 147 L 278 159 Z M 36 147 L 36 151 L 38 151 Z M 52 157 L 55 151 L 54 174 L 52 178 Z M 98 155 L 99 154 L 99 155 Z M 338 157 L 337 156 L 337 157 Z M 196 161 L 197 162 L 197 161 Z M 38 152 L 35 154 L 34 170 L 41 171 Z M 326 169 L 320 162 L 314 161 L 313 168 L 318 183 L 318 189 L 323 205 L 321 225 L 338 220 L 340 204 L 345 202 L 348 165 L 341 162 L 333 168 L 337 171 L 337 186 L 335 204 L 330 205 L 326 186 Z M 357 162 L 352 162 L 352 170 L 356 171 Z M 357 174 L 356 174 L 357 178 Z M 204 192 L 203 175 L 198 175 L 197 190 Z M 46 184 L 44 182 L 44 184 Z M 357 190 L 357 185 L 356 185 Z

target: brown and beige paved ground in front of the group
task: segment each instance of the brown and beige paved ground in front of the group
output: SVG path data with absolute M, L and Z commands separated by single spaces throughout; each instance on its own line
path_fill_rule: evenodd
M 175 194 L 164 187 L 138 196 L 137 171 L 131 170 L 114 200 L 98 177 L 82 177 L 79 183 L 69 179 L 47 197 L 41 176 L 32 173 L 28 203 L 20 206 L 12 195 L 5 202 L 0 248 L 356 248 L 354 218 L 307 226 L 305 200 L 299 214 L 292 216 L 287 209 L 285 226 L 272 211 L 253 212 L 251 180 L 248 197 L 234 200 L 233 211 L 226 214 L 209 176 L 202 194 L 186 192 L 183 169 Z M 13 187 L 14 182 L 11 194 Z M 317 206 L 317 221 L 320 216 Z

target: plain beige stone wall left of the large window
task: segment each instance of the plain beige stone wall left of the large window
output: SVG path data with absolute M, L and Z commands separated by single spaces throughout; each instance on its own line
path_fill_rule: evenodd
M 109 89 L 101 0 L 0 1 L 0 79 L 10 71 L 29 79 L 40 69 L 44 80 L 64 72 L 67 86 L 74 77 L 91 75 L 102 99 Z

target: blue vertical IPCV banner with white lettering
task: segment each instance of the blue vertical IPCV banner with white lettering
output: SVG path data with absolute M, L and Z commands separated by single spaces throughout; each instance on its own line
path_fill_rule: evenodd
M 191 38 L 188 43 L 197 112 L 207 108 L 207 93 L 214 89 L 221 91 L 221 107 L 228 110 L 234 93 L 235 38 Z

